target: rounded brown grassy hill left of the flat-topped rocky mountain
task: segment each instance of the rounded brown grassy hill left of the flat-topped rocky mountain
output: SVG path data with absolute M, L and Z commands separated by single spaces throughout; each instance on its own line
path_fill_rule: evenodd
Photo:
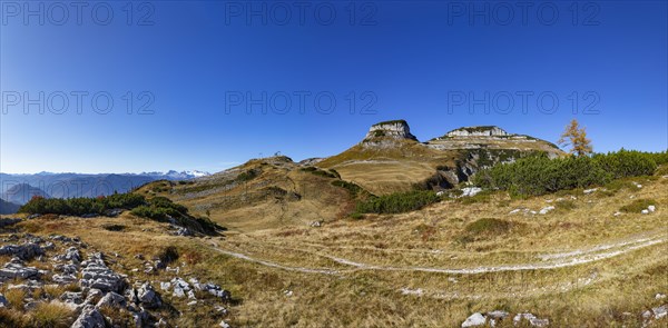
M 137 192 L 169 197 L 197 215 L 206 216 L 208 210 L 216 222 L 242 231 L 334 220 L 352 209 L 347 191 L 331 185 L 334 179 L 299 169 L 282 158 L 252 160 L 193 185 L 161 181 Z M 250 170 L 257 177 L 239 181 L 239 175 Z M 293 197 L 277 193 L 276 188 Z

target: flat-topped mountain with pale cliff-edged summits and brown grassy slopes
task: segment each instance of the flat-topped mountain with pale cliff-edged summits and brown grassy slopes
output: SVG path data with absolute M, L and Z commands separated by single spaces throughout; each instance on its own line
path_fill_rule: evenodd
M 511 133 L 497 126 L 462 127 L 421 142 L 405 120 L 373 125 L 364 139 L 316 166 L 334 169 L 373 193 L 450 189 L 465 182 L 479 169 L 521 157 L 546 153 L 563 156 L 553 143 Z

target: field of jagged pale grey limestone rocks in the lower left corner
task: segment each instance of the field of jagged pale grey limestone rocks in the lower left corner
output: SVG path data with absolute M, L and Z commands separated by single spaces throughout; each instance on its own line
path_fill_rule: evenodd
M 12 305 L 0 294 L 0 308 L 11 306 L 12 311 L 21 314 L 32 311 L 42 302 L 57 302 L 71 310 L 72 320 L 76 319 L 71 327 L 75 328 L 173 327 L 167 322 L 167 318 L 163 317 L 163 310 L 183 312 L 183 309 L 178 310 L 170 304 L 169 297 L 163 299 L 151 282 L 134 281 L 129 285 L 131 280 L 128 276 L 112 270 L 110 264 L 115 264 L 114 268 L 116 266 L 124 268 L 117 262 L 119 255 L 115 254 L 115 262 L 111 259 L 106 260 L 102 252 L 89 252 L 87 260 L 80 261 L 88 246 L 78 238 L 52 236 L 47 240 L 53 241 L 46 241 L 30 233 L 12 233 L 2 237 L 0 242 L 12 242 L 12 245 L 4 245 L 1 249 L 14 257 L 6 264 L 0 262 L 0 286 L 7 292 L 19 289 L 24 297 L 21 305 Z M 39 254 L 37 261 L 40 264 L 40 269 L 26 266 L 18 257 L 31 258 L 36 254 Z M 166 270 L 170 272 L 169 267 Z M 176 274 L 178 275 L 178 270 Z M 17 279 L 22 281 L 17 282 Z M 177 295 L 188 297 L 188 307 L 209 306 L 218 316 L 227 315 L 227 309 L 219 302 L 230 300 L 228 291 L 214 284 L 200 284 L 195 277 L 190 277 L 188 281 L 175 278 L 171 284 L 161 282 L 160 287 L 170 289 L 174 285 Z M 59 287 L 59 285 L 70 284 L 80 285 L 80 291 Z M 62 291 L 59 295 L 49 294 L 48 298 L 33 298 L 38 290 L 47 290 L 47 287 L 50 288 L 49 290 Z M 208 296 L 209 294 L 214 297 Z M 203 299 L 197 299 L 199 297 Z

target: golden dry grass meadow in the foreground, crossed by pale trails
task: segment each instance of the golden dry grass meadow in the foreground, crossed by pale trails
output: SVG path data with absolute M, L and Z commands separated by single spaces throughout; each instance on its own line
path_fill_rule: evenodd
M 151 256 L 175 245 L 181 254 L 179 261 L 186 262 L 180 276 L 210 279 L 232 290 L 238 301 L 230 309 L 235 327 L 455 327 L 473 311 L 494 309 L 531 311 L 549 318 L 552 327 L 639 327 L 644 310 L 665 304 L 654 296 L 668 292 L 666 242 L 560 269 L 477 275 L 353 270 L 327 257 L 395 267 L 471 268 L 540 264 L 538 256 L 544 254 L 666 236 L 668 178 L 635 181 L 644 187 L 627 183 L 628 188 L 617 192 L 583 195 L 574 190 L 527 200 L 499 193 L 480 197 L 479 202 L 445 201 L 411 213 L 338 220 L 322 228 L 301 222 L 255 231 L 244 227 L 247 232 L 237 229 L 225 238 L 167 236 L 166 225 L 127 215 L 117 219 L 36 219 L 20 223 L 19 230 L 79 236 L 90 245 L 87 251 L 118 252 L 114 268 L 140 276 L 137 278 L 144 274 L 130 271 L 141 267 L 134 255 Z M 544 216 L 509 213 L 515 208 L 539 210 L 560 197 L 569 202 Z M 635 199 L 655 199 L 657 212 L 613 216 Z M 471 222 L 490 217 L 509 221 L 513 228 L 474 236 L 466 230 Z M 127 229 L 107 231 L 101 229 L 105 223 Z M 267 267 L 220 254 L 213 245 L 286 266 L 332 268 L 342 274 Z M 160 275 L 168 276 L 145 278 L 165 281 L 173 274 Z M 403 295 L 401 288 L 420 288 L 423 294 Z M 293 295 L 286 296 L 286 290 Z M 186 307 L 181 300 L 175 302 Z M 205 327 L 219 321 L 207 311 L 197 307 L 184 311 L 179 324 Z M 498 327 L 510 327 L 508 324 Z M 665 320 L 654 327 L 660 327 L 658 324 Z

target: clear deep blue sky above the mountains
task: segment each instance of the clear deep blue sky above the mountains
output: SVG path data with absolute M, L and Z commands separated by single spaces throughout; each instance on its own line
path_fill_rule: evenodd
M 666 1 L 27 3 L 2 1 L 3 172 L 218 171 L 259 153 L 324 157 L 399 118 L 423 141 L 473 125 L 556 141 L 577 118 L 597 151 L 668 143 Z M 110 112 L 96 112 L 96 93 L 98 111 L 111 96 Z M 151 98 L 153 113 L 138 115 Z

